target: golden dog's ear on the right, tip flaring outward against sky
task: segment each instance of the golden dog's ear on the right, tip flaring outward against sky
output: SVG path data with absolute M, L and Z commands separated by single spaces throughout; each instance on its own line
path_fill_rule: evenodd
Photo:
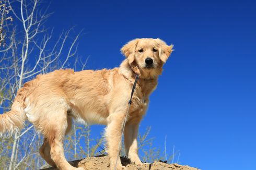
M 156 39 L 159 44 L 159 58 L 162 62 L 166 63 L 167 59 L 171 55 L 173 45 L 167 45 L 164 41 Z

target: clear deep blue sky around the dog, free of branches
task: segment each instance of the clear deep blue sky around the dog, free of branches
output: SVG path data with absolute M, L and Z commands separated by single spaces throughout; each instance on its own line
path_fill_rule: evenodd
M 44 3 L 44 5 L 48 5 Z M 175 51 L 150 96 L 141 131 L 155 147 L 201 169 L 253 169 L 256 161 L 255 1 L 51 1 L 46 25 L 75 26 L 87 69 L 113 68 L 135 38 L 160 38 Z M 92 127 L 99 136 L 102 126 Z

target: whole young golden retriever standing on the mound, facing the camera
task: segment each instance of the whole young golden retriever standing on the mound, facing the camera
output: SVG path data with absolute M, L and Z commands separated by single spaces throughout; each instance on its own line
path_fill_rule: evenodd
M 102 70 L 55 70 L 38 75 L 20 88 L 11 111 L 0 115 L 0 133 L 22 129 L 26 120 L 44 135 L 39 149 L 43 159 L 59 169 L 83 169 L 65 159 L 63 139 L 72 127 L 72 119 L 106 127 L 106 148 L 110 168 L 125 169 L 119 155 L 122 127 L 135 76 L 139 79 L 124 128 L 126 154 L 134 164 L 138 156 L 138 126 L 148 107 L 150 93 L 156 89 L 162 66 L 172 45 L 160 39 L 135 39 L 121 48 L 125 59 L 120 67 Z

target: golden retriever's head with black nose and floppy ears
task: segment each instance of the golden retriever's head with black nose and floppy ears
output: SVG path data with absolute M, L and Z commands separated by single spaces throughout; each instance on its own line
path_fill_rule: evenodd
M 173 45 L 160 39 L 135 39 L 125 44 L 121 51 L 137 74 L 153 78 L 161 74 L 162 66 L 172 52 Z M 139 72 L 138 72 L 139 71 Z

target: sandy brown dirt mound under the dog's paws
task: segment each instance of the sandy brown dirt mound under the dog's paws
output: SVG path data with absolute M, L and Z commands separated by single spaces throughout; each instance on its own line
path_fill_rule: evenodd
M 131 164 L 129 160 L 121 157 L 122 164 L 126 166 L 127 170 L 137 169 L 137 170 L 197 170 L 198 168 L 190 167 L 188 165 L 179 165 L 179 164 L 167 164 L 162 161 L 156 161 L 154 163 L 145 163 L 143 165 L 134 165 Z M 97 157 L 87 157 L 84 160 L 77 160 L 70 162 L 75 167 L 84 167 L 85 169 L 90 170 L 101 170 L 101 169 L 110 169 L 109 159 L 107 155 L 101 155 Z M 53 170 L 57 168 L 47 168 L 48 170 Z M 44 169 L 46 170 L 46 169 Z M 199 169 L 198 169 L 199 170 Z

